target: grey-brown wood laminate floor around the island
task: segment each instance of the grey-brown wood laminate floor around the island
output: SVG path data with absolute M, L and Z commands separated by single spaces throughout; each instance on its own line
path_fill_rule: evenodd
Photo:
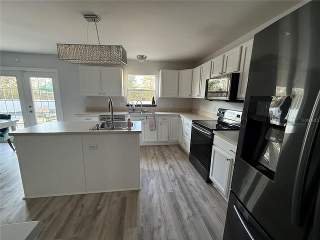
M 140 146 L 141 190 L 26 200 L 16 154 L 0 151 L 0 222 L 40 220 L 37 239 L 222 239 L 227 203 L 178 145 Z

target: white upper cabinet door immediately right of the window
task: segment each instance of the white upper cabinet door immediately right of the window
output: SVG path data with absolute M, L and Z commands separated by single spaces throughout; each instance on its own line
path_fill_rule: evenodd
M 160 97 L 177 97 L 178 85 L 178 70 L 160 70 Z

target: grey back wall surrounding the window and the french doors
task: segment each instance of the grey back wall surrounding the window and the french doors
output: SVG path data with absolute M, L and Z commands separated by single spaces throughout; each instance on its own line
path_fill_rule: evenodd
M 19 62 L 15 58 L 19 58 Z M 78 64 L 64 62 L 57 58 L 57 55 L 50 54 L 31 54 L 18 52 L 0 52 L 0 65 L 8 67 L 36 67 L 36 68 L 56 68 L 58 69 L 61 102 L 64 121 L 76 120 L 75 113 L 85 111 L 85 107 L 92 106 L 105 107 L 107 96 L 84 97 L 80 94 L 80 81 Z M 117 65 L 119 66 L 119 65 Z M 156 75 L 158 95 L 158 77 L 159 70 L 163 69 L 186 69 L 193 67 L 191 63 L 162 62 L 162 61 L 145 61 L 127 60 L 127 65 L 123 65 L 124 86 L 126 84 L 126 74 L 150 74 Z M 125 92 L 125 91 L 124 91 Z M 87 103 L 83 103 L 83 98 L 87 98 Z M 121 102 L 126 102 L 125 97 L 112 97 L 115 107 Z M 192 99 L 188 98 L 156 98 L 158 107 L 169 107 L 173 103 L 173 107 L 191 108 Z

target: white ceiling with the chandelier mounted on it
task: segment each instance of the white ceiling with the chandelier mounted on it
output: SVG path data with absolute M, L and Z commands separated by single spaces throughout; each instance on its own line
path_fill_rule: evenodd
M 298 4 L 284 0 L 1 0 L 0 50 L 57 54 L 56 43 L 123 45 L 128 59 L 196 62 Z

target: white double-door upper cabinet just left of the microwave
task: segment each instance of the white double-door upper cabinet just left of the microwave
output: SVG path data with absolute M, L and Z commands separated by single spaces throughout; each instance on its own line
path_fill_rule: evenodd
M 203 98 L 205 93 L 205 80 L 210 78 L 211 61 L 193 68 L 192 97 Z

